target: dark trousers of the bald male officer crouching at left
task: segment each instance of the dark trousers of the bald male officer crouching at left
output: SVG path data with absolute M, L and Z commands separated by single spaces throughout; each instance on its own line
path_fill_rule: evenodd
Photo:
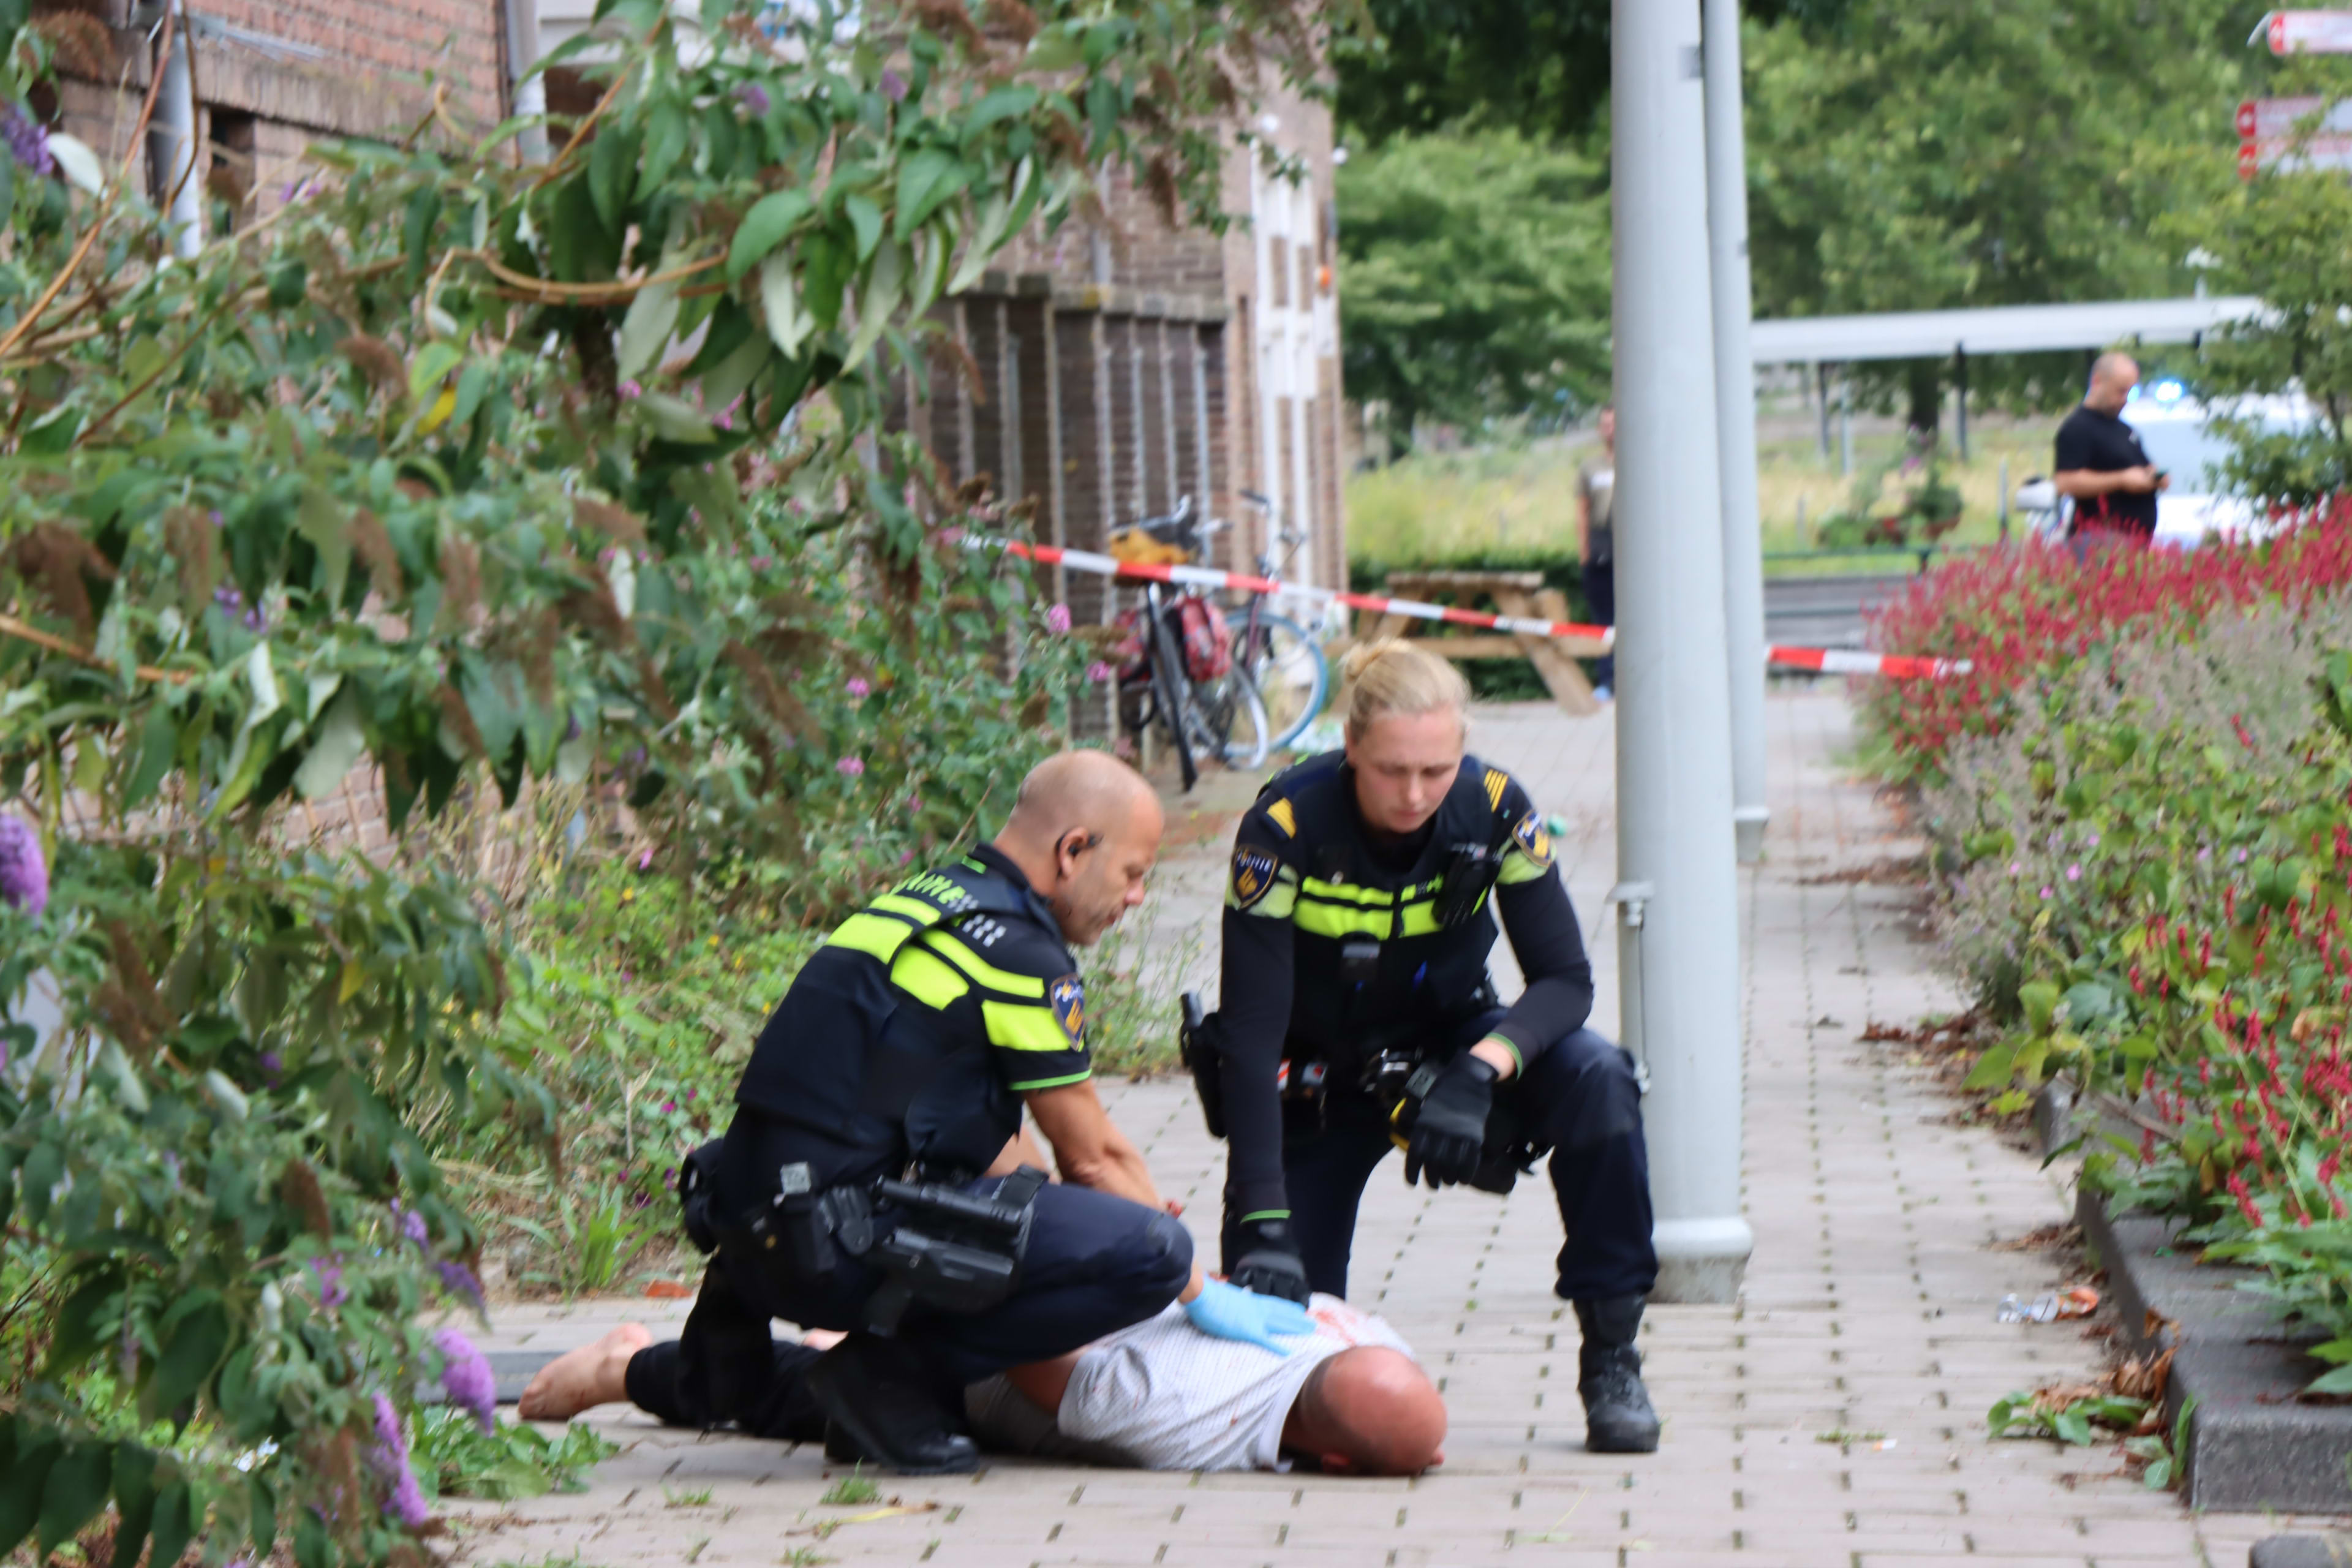
M 774 1171 L 779 1138 L 746 1114 L 727 1133 L 715 1194 L 736 1213 L 757 1201 L 757 1171 Z M 786 1150 L 788 1152 L 788 1150 Z M 774 1187 L 769 1187 L 774 1190 Z M 997 1178 L 967 1192 L 995 1194 Z M 1183 1225 L 1141 1204 L 1087 1187 L 1047 1185 L 1037 1192 L 1021 1288 L 988 1312 L 946 1314 L 922 1305 L 898 1324 L 898 1342 L 915 1352 L 941 1401 L 1009 1366 L 1049 1361 L 1091 1345 L 1129 1324 L 1155 1316 L 1192 1276 L 1192 1237 Z M 786 1279 L 757 1260 L 720 1248 L 703 1272 L 703 1288 L 675 1352 L 628 1366 L 633 1403 L 682 1427 L 736 1422 L 748 1432 L 790 1422 L 797 1387 L 797 1347 L 779 1347 L 769 1319 L 804 1328 L 856 1331 L 866 1298 L 882 1284 L 851 1258 L 823 1279 Z M 663 1347 L 654 1347 L 663 1349 Z M 804 1352 L 800 1352 L 804 1354 Z M 642 1378 L 640 1378 L 642 1363 Z M 656 1387 L 668 1382 L 668 1387 Z M 644 1387 L 640 1387 L 644 1385 Z

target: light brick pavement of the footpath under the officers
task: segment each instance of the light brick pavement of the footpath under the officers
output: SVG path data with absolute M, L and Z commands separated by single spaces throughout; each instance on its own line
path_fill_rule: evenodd
M 1738 1307 L 1658 1307 L 1644 1326 L 1665 1446 L 1583 1453 L 1576 1324 L 1548 1293 L 1559 1220 L 1545 1182 L 1510 1199 L 1409 1192 L 1383 1168 L 1357 1239 L 1357 1300 L 1442 1380 L 1446 1465 L 1418 1481 L 1190 1476 L 990 1462 L 887 1481 L 906 1512 L 823 1507 L 809 1448 L 595 1420 L 626 1450 L 588 1493 L 473 1509 L 468 1563 L 1359 1563 L 1559 1568 L 1823 1563 L 1929 1568 L 2178 1563 L 2237 1568 L 2298 1521 L 2187 1514 L 2119 1479 L 2112 1448 L 1990 1443 L 2004 1392 L 2091 1371 L 2070 1326 L 2004 1326 L 2009 1291 L 2058 1284 L 2037 1253 L 1987 1251 L 2067 1213 L 2063 1182 L 1950 1105 L 1867 1020 L 1952 1006 L 1905 886 L 1842 879 L 1915 853 L 1865 785 L 1839 776 L 1846 708 L 1776 696 L 1769 863 L 1745 875 L 1748 1213 Z M 1611 726 L 1552 708 L 1482 710 L 1475 748 L 1569 818 L 1562 863 L 1597 929 L 1597 1023 L 1616 1018 L 1602 914 L 1613 877 Z M 1207 853 L 1221 858 L 1216 846 Z M 1178 867 L 1181 870 L 1181 867 Z M 1197 870 L 1178 882 L 1197 882 Z M 1188 898 L 1207 917 L 1207 900 Z M 1214 1248 L 1223 1150 L 1181 1084 L 1110 1088 L 1112 1114 Z M 654 1302 L 644 1302 L 654 1307 Z M 567 1345 L 640 1305 L 513 1309 L 501 1345 Z M 677 1321 L 682 1309 L 661 1316 Z M 710 1490 L 708 1505 L 682 1502 Z M 830 1535 L 818 1535 L 828 1523 Z

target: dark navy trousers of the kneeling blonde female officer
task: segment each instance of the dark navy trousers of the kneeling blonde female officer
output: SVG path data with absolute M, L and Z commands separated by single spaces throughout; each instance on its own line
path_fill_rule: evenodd
M 1501 1018 L 1501 1009 L 1482 1013 L 1449 1044 L 1468 1048 Z M 1658 1255 L 1651 1251 L 1649 1150 L 1632 1058 L 1606 1037 L 1576 1030 L 1538 1053 L 1524 1077 L 1501 1084 L 1496 1095 L 1515 1095 L 1526 1140 L 1552 1150 L 1552 1192 L 1569 1232 L 1559 1248 L 1559 1295 L 1649 1295 L 1658 1284 Z M 1308 1284 L 1345 1295 L 1357 1201 L 1395 1143 L 1383 1110 L 1362 1095 L 1331 1095 L 1319 1119 L 1305 1103 L 1284 1110 L 1291 1112 L 1282 1138 L 1291 1234 L 1308 1265 Z M 1482 1197 L 1463 1192 L 1451 1201 L 1477 1204 Z

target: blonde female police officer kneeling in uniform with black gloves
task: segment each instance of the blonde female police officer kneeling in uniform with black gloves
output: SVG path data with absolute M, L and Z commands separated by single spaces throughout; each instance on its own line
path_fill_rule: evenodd
M 1592 966 L 1550 835 L 1508 773 L 1463 755 L 1454 665 L 1388 639 L 1345 675 L 1345 750 L 1279 773 L 1235 837 L 1223 1009 L 1204 1030 L 1232 1140 L 1225 1272 L 1294 1300 L 1345 1295 L 1357 1201 L 1395 1143 L 1404 1180 L 1430 1187 L 1508 1187 L 1550 1150 L 1588 1446 L 1649 1453 L 1639 1086 L 1632 1058 L 1583 1027 Z M 1508 1009 L 1486 978 L 1489 905 L 1526 976 Z

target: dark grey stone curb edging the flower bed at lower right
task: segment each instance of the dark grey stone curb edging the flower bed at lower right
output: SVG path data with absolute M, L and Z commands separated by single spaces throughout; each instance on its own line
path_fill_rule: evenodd
M 2253 1272 L 2197 1265 L 2171 1248 L 2176 1220 L 2114 1215 L 2089 1190 L 2077 1192 L 2074 1213 L 2091 1255 L 2107 1269 L 2124 1342 L 2178 1345 L 2164 1406 L 2169 1425 L 2190 1408 L 2183 1455 L 2190 1507 L 2352 1514 L 2352 1406 L 2296 1403 L 2296 1392 L 2326 1368 L 2298 1349 L 2260 1298 L 2237 1288 Z M 2150 1335 L 2150 1312 L 2178 1328 Z

